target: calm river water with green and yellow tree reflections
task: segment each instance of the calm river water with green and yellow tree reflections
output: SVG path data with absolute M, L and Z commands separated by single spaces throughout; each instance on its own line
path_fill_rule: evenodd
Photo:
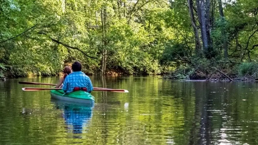
M 258 83 L 171 81 L 152 76 L 91 76 L 89 106 L 22 91 L 18 81 L 57 83 L 57 77 L 0 81 L 1 145 L 258 144 Z

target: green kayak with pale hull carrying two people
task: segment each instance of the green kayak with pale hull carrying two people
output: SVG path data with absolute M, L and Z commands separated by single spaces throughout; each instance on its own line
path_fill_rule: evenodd
M 63 90 L 50 90 L 52 98 L 57 100 L 94 104 L 95 97 L 85 91 L 76 91 L 64 94 Z

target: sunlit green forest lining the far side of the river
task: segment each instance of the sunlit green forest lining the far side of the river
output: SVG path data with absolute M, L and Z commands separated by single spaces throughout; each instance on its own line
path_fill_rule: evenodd
M 1 0 L 0 77 L 258 78 L 258 0 Z

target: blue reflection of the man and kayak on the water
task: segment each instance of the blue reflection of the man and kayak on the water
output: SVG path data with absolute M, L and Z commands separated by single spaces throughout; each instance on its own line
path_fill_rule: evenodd
M 85 127 L 90 123 L 94 104 L 84 104 L 69 101 L 61 101 L 51 99 L 55 104 L 55 108 L 63 110 L 63 118 L 65 120 L 68 132 L 82 133 L 87 131 Z M 83 130 L 83 128 L 85 130 Z

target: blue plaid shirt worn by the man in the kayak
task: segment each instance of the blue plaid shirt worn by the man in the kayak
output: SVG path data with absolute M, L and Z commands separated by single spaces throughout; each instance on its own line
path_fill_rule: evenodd
M 93 90 L 90 78 L 81 71 L 70 73 L 63 81 L 62 89 L 66 93 L 73 92 L 74 87 L 87 88 L 88 92 Z

